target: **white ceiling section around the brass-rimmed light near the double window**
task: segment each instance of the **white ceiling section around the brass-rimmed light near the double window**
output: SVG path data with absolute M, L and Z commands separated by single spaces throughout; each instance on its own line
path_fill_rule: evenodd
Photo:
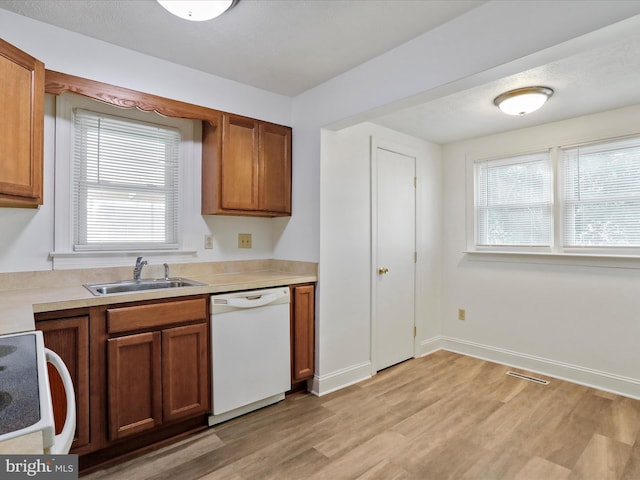
M 601 36 L 580 53 L 404 108 L 375 123 L 446 144 L 640 104 L 640 21 L 634 23 L 627 33 Z M 540 110 L 514 117 L 493 104 L 499 94 L 530 85 L 554 89 Z

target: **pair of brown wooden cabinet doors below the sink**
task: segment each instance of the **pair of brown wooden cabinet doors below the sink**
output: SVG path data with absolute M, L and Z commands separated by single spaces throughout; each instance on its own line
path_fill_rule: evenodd
M 200 323 L 108 340 L 110 440 L 208 411 L 207 338 Z

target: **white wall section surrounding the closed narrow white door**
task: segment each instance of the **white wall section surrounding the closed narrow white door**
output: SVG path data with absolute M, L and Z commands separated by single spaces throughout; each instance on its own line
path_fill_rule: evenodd
M 319 393 L 372 373 L 372 138 L 378 144 L 402 145 L 417 155 L 416 354 L 421 354 L 424 340 L 440 331 L 440 147 L 371 123 L 323 131 L 319 271 L 323 321 L 314 384 Z

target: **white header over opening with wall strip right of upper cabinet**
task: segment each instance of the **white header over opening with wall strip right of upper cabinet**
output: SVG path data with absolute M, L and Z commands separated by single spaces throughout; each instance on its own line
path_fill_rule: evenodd
M 318 261 L 322 128 L 352 126 L 419 100 L 538 66 L 541 59 L 535 53 L 544 52 L 545 62 L 566 56 L 571 48 L 584 45 L 551 47 L 640 14 L 640 2 L 635 1 L 577 3 L 489 1 L 295 97 L 294 215 L 276 221 L 276 256 Z

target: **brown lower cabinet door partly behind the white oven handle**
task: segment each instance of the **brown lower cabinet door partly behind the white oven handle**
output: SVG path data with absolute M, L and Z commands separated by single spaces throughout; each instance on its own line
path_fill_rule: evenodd
M 71 448 L 89 443 L 89 317 L 79 316 L 37 322 L 42 330 L 45 346 L 64 361 L 73 380 L 76 394 L 76 434 Z M 67 402 L 58 371 L 48 365 L 56 434 L 59 434 L 67 415 Z

